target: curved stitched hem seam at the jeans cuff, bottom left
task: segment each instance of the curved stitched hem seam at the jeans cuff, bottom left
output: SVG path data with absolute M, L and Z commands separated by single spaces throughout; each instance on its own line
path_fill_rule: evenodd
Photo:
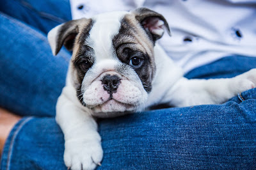
M 26 120 L 24 120 L 22 123 L 20 123 L 19 127 L 17 127 L 17 129 L 15 130 L 15 132 L 13 133 L 12 139 L 10 141 L 10 147 L 8 150 L 8 155 L 7 155 L 7 160 L 6 160 L 6 169 L 10 169 L 10 161 L 11 161 L 11 157 L 12 157 L 12 150 L 13 150 L 13 143 L 15 141 L 15 138 L 17 137 L 17 134 L 19 133 L 20 129 L 26 124 L 28 123 L 28 121 L 30 121 L 33 117 L 27 118 Z

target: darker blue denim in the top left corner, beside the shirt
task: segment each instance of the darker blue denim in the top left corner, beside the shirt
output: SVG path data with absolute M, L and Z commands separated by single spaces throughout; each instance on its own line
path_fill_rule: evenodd
M 69 0 L 3 0 L 0 12 L 47 34 L 53 27 L 71 20 Z

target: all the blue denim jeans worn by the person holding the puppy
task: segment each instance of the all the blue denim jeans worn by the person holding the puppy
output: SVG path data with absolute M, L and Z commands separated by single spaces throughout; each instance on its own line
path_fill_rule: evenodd
M 0 169 L 67 169 L 63 134 L 54 115 L 70 53 L 62 49 L 52 56 L 46 33 L 62 22 L 59 18 L 70 19 L 70 13 L 63 13 L 69 4 L 61 1 L 58 8 L 63 5 L 64 10 L 54 13 L 51 8 L 56 4 L 47 8 L 45 4 L 58 1 L 42 2 L 4 3 L 11 3 L 13 9 L 19 6 L 19 12 L 0 3 L 0 107 L 24 116 L 10 132 Z M 255 67 L 256 58 L 227 56 L 186 77 L 233 77 Z M 98 120 L 104 150 L 98 169 L 253 169 L 255 105 L 256 89 L 250 89 L 222 105 Z

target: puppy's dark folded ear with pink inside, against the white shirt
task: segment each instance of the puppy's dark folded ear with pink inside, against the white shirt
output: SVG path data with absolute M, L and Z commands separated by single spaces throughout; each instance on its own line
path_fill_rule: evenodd
M 154 42 L 163 36 L 164 27 L 166 27 L 168 35 L 171 36 L 170 27 L 160 13 L 149 10 L 148 8 L 137 8 L 132 13 L 134 13 L 135 19 L 140 22 L 145 31 L 150 33 Z

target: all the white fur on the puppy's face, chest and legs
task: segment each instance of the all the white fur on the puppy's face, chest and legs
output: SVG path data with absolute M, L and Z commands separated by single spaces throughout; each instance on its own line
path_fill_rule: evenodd
M 95 49 L 96 60 L 82 82 L 84 102 L 93 109 L 84 107 L 77 99 L 71 77 L 72 68 L 68 68 L 67 83 L 56 106 L 56 121 L 65 135 L 64 161 L 71 169 L 81 169 L 81 165 L 83 169 L 94 169 L 102 160 L 100 135 L 92 115 L 119 116 L 124 111 L 164 103 L 175 107 L 221 104 L 237 93 L 255 88 L 256 69 L 232 79 L 188 80 L 183 77 L 181 68 L 156 44 L 156 76 L 148 95 L 132 68 L 125 68 L 123 73 L 115 70 L 121 63 L 113 55 L 111 40 L 118 33 L 120 18 L 125 13 L 105 13 L 94 18 L 96 22 L 89 43 Z M 53 53 L 59 27 L 52 29 L 48 35 Z M 162 34 L 160 31 L 157 33 Z M 108 100 L 109 94 L 102 88 L 100 80 L 106 74 L 116 74 L 122 79 L 117 92 L 113 93 L 115 100 Z

